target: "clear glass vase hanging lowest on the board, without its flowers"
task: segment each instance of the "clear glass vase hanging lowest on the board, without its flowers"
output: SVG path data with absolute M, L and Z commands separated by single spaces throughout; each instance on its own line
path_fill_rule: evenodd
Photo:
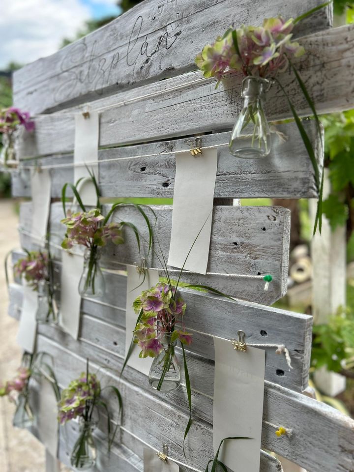
M 70 464 L 78 471 L 85 471 L 93 467 L 96 463 L 96 446 L 93 440 L 93 430 L 95 423 L 92 421 L 82 421 L 80 423 L 80 434 L 75 442 L 70 457 Z

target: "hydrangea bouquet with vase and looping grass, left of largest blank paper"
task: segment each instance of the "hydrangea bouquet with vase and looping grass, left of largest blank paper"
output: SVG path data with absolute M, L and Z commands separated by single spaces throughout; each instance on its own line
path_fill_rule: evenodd
M 64 249 L 71 249 L 74 245 L 80 245 L 86 248 L 84 254 L 84 271 L 79 283 L 79 293 L 80 295 L 99 297 L 105 293 L 105 281 L 99 264 L 101 256 L 100 249 L 106 246 L 109 241 L 116 245 L 124 243 L 122 230 L 125 226 L 128 226 L 133 230 L 139 251 L 140 237 L 139 231 L 134 224 L 127 221 L 120 221 L 119 223 L 110 222 L 113 212 L 123 204 L 117 203 L 113 205 L 106 216 L 102 215 L 98 185 L 94 175 L 92 173 L 90 173 L 90 175 L 97 193 L 96 208 L 87 209 L 83 205 L 77 188 L 80 180 L 76 185 L 66 183 L 63 187 L 62 203 L 65 218 L 61 220 L 61 223 L 66 226 L 66 234 L 61 243 L 61 247 Z M 65 194 L 68 185 L 72 188 L 82 211 L 75 213 L 71 210 L 66 211 Z M 143 215 L 150 233 L 151 226 L 143 208 L 140 205 L 131 205 Z M 151 243 L 149 243 L 149 250 L 150 244 Z

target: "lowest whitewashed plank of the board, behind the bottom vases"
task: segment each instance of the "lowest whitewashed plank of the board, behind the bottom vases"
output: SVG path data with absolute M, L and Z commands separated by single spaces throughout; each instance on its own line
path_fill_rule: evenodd
M 63 387 L 66 385 L 60 386 Z M 33 412 L 36 412 L 38 410 L 37 405 L 40 401 L 39 398 L 40 391 L 38 391 L 36 384 L 32 384 L 30 402 Z M 101 417 L 98 423 L 98 428 L 96 428 L 94 431 L 94 438 L 97 447 L 97 460 L 96 466 L 91 470 L 91 472 L 117 472 L 117 470 L 121 470 L 124 472 L 143 472 L 143 451 L 145 447 L 148 447 L 145 435 L 139 432 L 140 437 L 138 437 L 136 435 L 137 432 L 135 434 L 131 433 L 123 427 L 120 431 L 118 431 L 116 439 L 112 444 L 111 452 L 108 453 L 106 423 L 107 417 L 105 415 L 105 412 L 102 410 L 100 411 L 100 415 Z M 116 422 L 111 421 L 112 430 L 116 427 L 116 425 Z M 60 428 L 59 458 L 61 462 L 67 466 L 70 466 L 70 455 L 72 445 L 78 438 L 78 430 L 79 427 L 75 421 L 70 421 L 65 425 L 65 427 Z M 30 431 L 34 436 L 38 438 L 38 430 L 35 426 L 32 426 L 30 428 Z M 122 441 L 120 440 L 121 438 Z M 123 443 L 125 445 L 123 445 Z M 162 449 L 162 445 L 159 446 L 159 449 Z M 184 459 L 184 462 L 187 461 Z M 195 472 L 195 470 L 184 465 L 179 465 L 179 470 L 180 472 Z M 265 451 L 261 450 L 260 472 L 282 472 L 282 469 L 279 464 L 279 461 L 275 459 L 275 457 L 272 457 Z

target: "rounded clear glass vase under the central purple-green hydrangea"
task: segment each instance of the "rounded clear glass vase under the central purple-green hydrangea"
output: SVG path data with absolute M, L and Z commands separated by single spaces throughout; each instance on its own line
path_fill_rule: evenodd
M 171 392 L 180 385 L 180 369 L 175 354 L 177 340 L 171 342 L 171 334 L 166 333 L 161 341 L 163 350 L 152 361 L 149 384 L 155 390 Z

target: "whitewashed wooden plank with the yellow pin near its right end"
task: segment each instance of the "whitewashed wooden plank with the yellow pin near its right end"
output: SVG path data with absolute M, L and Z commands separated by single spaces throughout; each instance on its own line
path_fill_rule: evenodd
M 43 332 L 44 329 L 51 328 L 40 329 Z M 85 348 L 85 342 L 75 343 L 69 338 L 64 334 L 56 341 L 46 338 L 43 334 L 38 337 L 38 349 L 55 356 L 59 383 L 64 385 L 84 369 L 86 352 L 89 351 L 91 359 L 101 365 L 101 359 L 96 357 L 92 347 L 88 345 Z M 75 356 L 75 363 L 71 360 L 72 355 Z M 104 364 L 113 369 L 113 372 L 115 369 L 119 372 L 121 363 L 119 365 L 114 362 L 107 363 L 108 360 L 110 359 L 106 355 Z M 103 384 L 117 384 L 112 374 L 106 376 L 104 370 L 100 372 L 104 378 Z M 146 377 L 131 368 L 127 368 L 126 372 L 125 379 L 119 383 L 119 389 L 125 399 L 123 427 L 138 437 L 143 436 L 150 445 L 156 448 L 160 448 L 162 442 L 168 438 L 171 456 L 183 462 L 181 443 L 183 425 L 187 420 L 185 392 L 184 405 L 182 405 L 181 400 L 176 399 L 178 395 L 182 396 L 181 389 L 171 394 L 160 394 L 151 390 L 146 392 L 141 387 L 144 379 L 147 382 Z M 193 373 L 191 379 L 200 384 L 200 391 L 213 388 L 212 382 L 207 381 L 206 371 L 200 373 L 197 378 Z M 193 392 L 195 420 L 187 438 L 187 459 L 190 466 L 201 470 L 204 470 L 203 465 L 206 464 L 206 458 L 211 451 L 211 395 L 206 396 L 200 393 L 196 396 L 196 392 Z M 205 421 L 200 419 L 203 403 L 208 410 Z M 171 407 L 171 404 L 174 407 Z M 153 414 L 151 412 L 157 411 L 159 414 L 154 415 L 151 421 Z M 113 418 L 118 420 L 118 412 Z M 268 425 L 266 421 L 292 429 L 291 437 L 277 438 L 275 428 Z M 122 443 L 132 449 L 126 441 L 125 433 L 122 434 Z M 353 472 L 354 421 L 312 398 L 272 383 L 266 383 L 262 447 L 296 462 L 308 472 Z

